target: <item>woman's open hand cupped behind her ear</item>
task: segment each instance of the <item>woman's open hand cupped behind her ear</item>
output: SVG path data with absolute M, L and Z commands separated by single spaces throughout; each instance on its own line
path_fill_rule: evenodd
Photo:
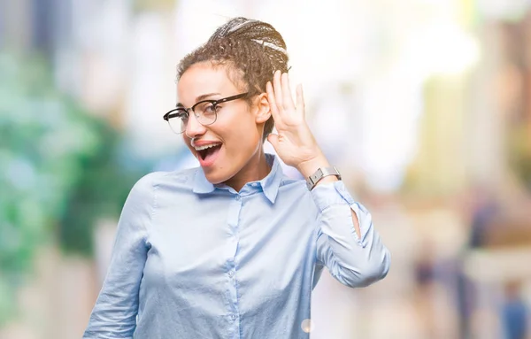
M 277 71 L 273 84 L 266 84 L 267 97 L 278 134 L 267 136 L 281 160 L 309 176 L 320 166 L 329 166 L 312 131 L 304 119 L 304 96 L 301 85 L 296 87 L 296 104 L 289 88 L 288 73 Z

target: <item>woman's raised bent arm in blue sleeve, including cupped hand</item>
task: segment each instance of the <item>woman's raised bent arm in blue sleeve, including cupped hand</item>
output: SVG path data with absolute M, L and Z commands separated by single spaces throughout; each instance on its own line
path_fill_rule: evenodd
M 305 121 L 304 96 L 296 89 L 296 104 L 287 73 L 277 71 L 266 86 L 277 134 L 268 135 L 282 161 L 308 178 L 319 168 L 330 167 Z M 389 271 L 389 250 L 375 232 L 371 214 L 354 201 L 342 181 L 330 175 L 312 188 L 319 208 L 317 261 L 350 287 L 366 286 Z

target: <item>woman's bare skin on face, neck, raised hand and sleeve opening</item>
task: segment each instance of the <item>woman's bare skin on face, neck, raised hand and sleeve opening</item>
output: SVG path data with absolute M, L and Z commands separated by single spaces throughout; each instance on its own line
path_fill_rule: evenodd
M 231 81 L 227 75 L 227 65 L 202 62 L 191 65 L 182 74 L 177 91 L 181 104 L 191 107 L 199 101 L 199 96 L 205 94 L 216 93 L 207 98 L 219 99 L 246 90 L 242 83 Z M 220 106 L 218 119 L 206 127 L 190 114 L 186 131 L 182 134 L 184 142 L 196 157 L 194 144 L 211 141 L 223 143 L 214 164 L 204 168 L 206 179 L 213 184 L 225 183 L 239 191 L 247 182 L 266 177 L 271 168 L 266 162 L 262 135 L 271 115 L 277 134 L 268 135 L 267 140 L 286 165 L 295 167 L 304 177 L 310 176 L 319 167 L 330 166 L 306 123 L 302 86 L 296 88 L 294 103 L 288 73 L 275 72 L 273 81 L 266 85 L 266 93 L 254 97 L 252 104 L 235 100 Z M 337 181 L 335 176 L 327 176 L 318 185 L 333 181 Z M 354 212 L 352 220 L 358 236 L 361 236 Z

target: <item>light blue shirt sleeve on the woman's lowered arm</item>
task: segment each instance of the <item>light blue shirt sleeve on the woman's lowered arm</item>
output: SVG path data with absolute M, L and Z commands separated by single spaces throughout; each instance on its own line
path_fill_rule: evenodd
M 133 338 L 138 295 L 149 250 L 153 201 L 150 174 L 136 182 L 119 217 L 111 263 L 83 338 Z

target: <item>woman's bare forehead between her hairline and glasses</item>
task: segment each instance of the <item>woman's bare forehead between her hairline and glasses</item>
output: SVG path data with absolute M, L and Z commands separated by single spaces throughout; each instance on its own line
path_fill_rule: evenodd
M 201 62 L 191 65 L 177 83 L 177 96 L 182 104 L 194 104 L 197 96 L 219 93 L 221 96 L 234 95 L 240 91 L 239 76 L 227 65 Z M 240 85 L 240 86 L 238 86 Z

